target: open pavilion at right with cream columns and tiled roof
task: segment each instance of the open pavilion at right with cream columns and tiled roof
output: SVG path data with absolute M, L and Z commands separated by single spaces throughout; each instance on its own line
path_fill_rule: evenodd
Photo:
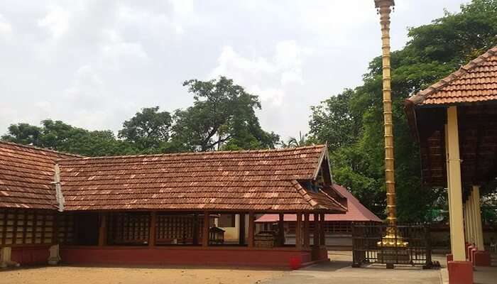
M 449 281 L 473 283 L 473 266 L 491 264 L 480 188 L 497 178 L 497 47 L 407 99 L 405 111 L 423 184 L 448 188 Z

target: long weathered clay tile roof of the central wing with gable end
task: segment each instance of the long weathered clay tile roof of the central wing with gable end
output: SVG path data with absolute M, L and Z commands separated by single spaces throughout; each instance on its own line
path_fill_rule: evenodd
M 65 210 L 344 212 L 297 180 L 315 178 L 326 146 L 60 160 Z

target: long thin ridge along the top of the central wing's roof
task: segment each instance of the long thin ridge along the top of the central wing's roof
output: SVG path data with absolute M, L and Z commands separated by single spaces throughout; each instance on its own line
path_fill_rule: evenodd
M 195 155 L 222 155 L 228 153 L 270 153 L 270 152 L 290 152 L 305 149 L 326 148 L 324 144 L 302 146 L 295 148 L 257 149 L 257 150 L 237 150 L 237 151 L 205 151 L 205 152 L 182 152 L 182 153 L 160 153 L 160 154 L 138 154 L 138 155 L 105 155 L 98 157 L 60 158 L 58 160 L 93 160 L 93 159 L 114 159 L 114 158 L 143 158 L 143 157 L 163 157 L 163 156 L 195 156 Z

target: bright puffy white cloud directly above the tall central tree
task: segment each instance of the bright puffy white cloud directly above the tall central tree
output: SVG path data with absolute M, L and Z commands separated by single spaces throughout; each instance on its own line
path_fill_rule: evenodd
M 270 58 L 246 58 L 228 45 L 222 49 L 210 77 L 230 77 L 261 101 L 280 105 L 288 85 L 304 84 L 302 64 L 311 53 L 310 48 L 302 48 L 294 40 L 278 42 Z

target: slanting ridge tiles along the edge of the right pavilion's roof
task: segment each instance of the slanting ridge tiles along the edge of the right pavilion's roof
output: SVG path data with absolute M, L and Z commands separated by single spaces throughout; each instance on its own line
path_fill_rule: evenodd
M 482 63 L 486 62 L 488 58 L 491 58 L 492 56 L 497 56 L 497 46 L 494 46 L 493 48 L 487 50 L 486 53 L 480 55 L 474 60 L 469 61 L 466 65 L 459 67 L 457 71 L 452 72 L 447 77 L 444 77 L 442 80 L 439 80 L 438 82 L 430 85 L 426 89 L 423 89 L 422 91 L 413 94 L 413 96 L 406 99 L 406 101 L 412 102 L 413 104 L 421 104 L 431 94 L 438 92 L 440 89 L 454 82 L 455 80 L 461 79 L 463 75 L 466 75 L 470 70 L 473 70 Z

